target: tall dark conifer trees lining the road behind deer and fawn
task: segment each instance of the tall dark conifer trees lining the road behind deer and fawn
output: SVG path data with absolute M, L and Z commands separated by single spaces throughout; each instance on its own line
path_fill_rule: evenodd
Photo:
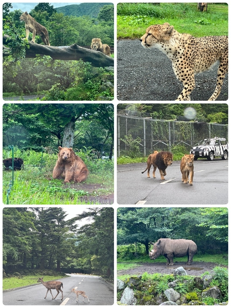
M 113 274 L 114 210 L 87 208 L 66 219 L 62 208 L 3 209 L 3 269 Z M 89 223 L 79 227 L 78 221 Z

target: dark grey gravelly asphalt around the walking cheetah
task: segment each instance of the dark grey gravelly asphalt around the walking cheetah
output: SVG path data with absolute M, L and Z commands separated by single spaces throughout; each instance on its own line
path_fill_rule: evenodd
M 207 101 L 217 84 L 217 67 L 195 75 L 196 87 L 190 97 Z M 142 47 L 139 39 L 120 39 L 117 43 L 117 99 L 132 101 L 173 101 L 183 89 L 176 79 L 172 62 L 156 48 Z M 228 99 L 228 74 L 217 101 Z

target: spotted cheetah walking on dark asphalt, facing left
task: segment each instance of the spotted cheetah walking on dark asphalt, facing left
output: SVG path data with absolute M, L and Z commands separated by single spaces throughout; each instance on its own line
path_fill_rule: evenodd
M 190 100 L 195 88 L 194 74 L 207 71 L 217 61 L 217 86 L 209 100 L 217 99 L 228 71 L 228 36 L 193 37 L 179 33 L 168 22 L 149 26 L 140 38 L 146 48 L 158 48 L 172 61 L 176 78 L 183 83 L 183 90 L 176 100 Z

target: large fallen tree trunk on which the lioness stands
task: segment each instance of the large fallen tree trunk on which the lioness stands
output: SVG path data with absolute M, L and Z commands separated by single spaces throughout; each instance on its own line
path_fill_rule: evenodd
M 3 35 L 3 44 L 6 43 L 8 35 Z M 53 60 L 79 60 L 84 62 L 91 62 L 95 67 L 114 66 L 114 59 L 104 55 L 100 51 L 95 51 L 72 44 L 71 46 L 46 46 L 37 43 L 28 42 L 30 48 L 26 50 L 26 58 L 35 58 L 37 54 L 51 56 Z M 10 49 L 3 46 L 5 51 L 3 57 L 8 56 Z

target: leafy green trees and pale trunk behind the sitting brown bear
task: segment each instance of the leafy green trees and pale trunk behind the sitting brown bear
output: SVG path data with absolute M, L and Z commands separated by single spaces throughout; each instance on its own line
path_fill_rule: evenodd
M 68 137 L 69 136 L 69 137 Z M 70 137 L 72 136 L 72 137 Z M 71 139 L 70 139 L 71 138 Z M 4 104 L 3 146 L 19 148 L 103 146 L 112 156 L 112 104 Z

